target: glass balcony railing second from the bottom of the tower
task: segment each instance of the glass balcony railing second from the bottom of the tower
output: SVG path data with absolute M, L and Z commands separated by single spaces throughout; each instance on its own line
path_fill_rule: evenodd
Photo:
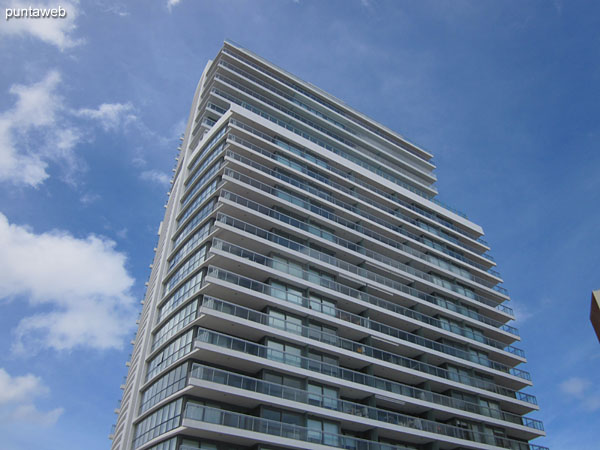
M 447 425 L 433 420 L 421 419 L 419 417 L 409 416 L 385 409 L 366 406 L 361 403 L 354 403 L 347 400 L 340 400 L 334 397 L 326 397 L 315 393 L 309 393 L 302 389 L 296 389 L 281 384 L 271 383 L 256 378 L 240 375 L 234 372 L 228 372 L 221 369 L 215 369 L 201 364 L 194 364 L 190 373 L 190 378 L 208 381 L 216 384 L 221 384 L 228 387 L 244 389 L 253 393 L 269 395 L 285 400 L 291 400 L 298 403 L 303 403 L 311 406 L 339 411 L 344 414 L 350 414 L 360 417 L 361 421 L 364 418 L 385 422 L 401 427 L 411 428 L 414 430 L 427 431 L 435 434 L 442 434 L 458 439 L 466 439 L 475 442 L 481 442 L 490 445 L 498 445 L 503 448 L 517 448 L 526 450 L 542 450 L 545 447 L 530 445 L 525 442 L 516 441 L 508 438 L 499 438 L 501 441 L 495 440 L 493 435 L 482 433 L 479 431 L 465 430 L 463 428 Z M 499 418 L 502 414 L 498 411 Z M 539 420 L 523 417 L 523 424 L 530 428 L 535 428 L 539 431 L 544 431 L 542 422 Z M 515 445 L 505 446 L 502 444 Z

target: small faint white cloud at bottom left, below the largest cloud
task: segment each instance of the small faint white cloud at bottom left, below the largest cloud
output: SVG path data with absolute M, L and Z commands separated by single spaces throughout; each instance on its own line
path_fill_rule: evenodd
M 32 374 L 11 376 L 0 368 L 0 419 L 4 424 L 18 423 L 49 427 L 56 423 L 63 413 L 62 408 L 42 412 L 33 401 L 48 394 L 42 380 Z

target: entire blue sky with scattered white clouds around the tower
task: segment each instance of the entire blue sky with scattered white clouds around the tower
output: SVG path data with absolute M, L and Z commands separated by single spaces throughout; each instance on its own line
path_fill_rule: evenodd
M 435 155 L 511 294 L 536 443 L 598 448 L 597 2 L 70 0 L 4 21 L 19 5 L 0 0 L 4 450 L 109 447 L 177 138 L 226 38 Z

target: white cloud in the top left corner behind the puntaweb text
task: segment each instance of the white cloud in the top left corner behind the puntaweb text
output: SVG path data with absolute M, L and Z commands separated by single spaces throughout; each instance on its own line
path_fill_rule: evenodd
M 4 2 L 3 2 L 4 3 Z M 57 8 L 58 5 L 65 9 L 64 18 L 13 18 L 5 20 L 0 27 L 0 34 L 9 36 L 33 36 L 42 41 L 55 45 L 61 51 L 79 45 L 83 41 L 73 36 L 77 25 L 75 21 L 79 14 L 77 3 L 69 1 L 35 2 L 10 1 L 3 4 L 4 8 L 29 9 L 32 8 Z M 4 9 L 3 8 L 3 9 Z M 3 18 L 4 19 L 4 18 Z

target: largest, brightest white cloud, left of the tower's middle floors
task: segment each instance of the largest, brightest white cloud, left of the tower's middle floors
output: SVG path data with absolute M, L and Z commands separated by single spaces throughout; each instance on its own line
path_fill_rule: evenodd
M 15 351 L 122 347 L 135 320 L 133 279 L 113 241 L 35 234 L 0 214 L 0 248 L 0 298 L 43 307 L 18 324 Z

